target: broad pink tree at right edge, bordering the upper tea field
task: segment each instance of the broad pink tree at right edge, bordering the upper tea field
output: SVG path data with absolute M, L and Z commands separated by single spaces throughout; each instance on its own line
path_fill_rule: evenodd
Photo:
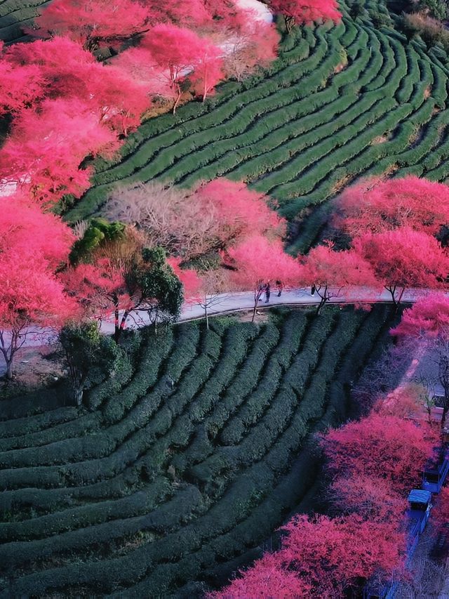
M 335 225 L 351 237 L 401 227 L 437 235 L 448 223 L 448 185 L 415 176 L 370 178 L 347 187 L 335 218 Z

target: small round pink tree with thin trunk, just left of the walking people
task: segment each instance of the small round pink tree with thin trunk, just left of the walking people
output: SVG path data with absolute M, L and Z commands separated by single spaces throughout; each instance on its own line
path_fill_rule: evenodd
M 224 256 L 225 263 L 233 269 L 232 279 L 243 289 L 254 290 L 253 320 L 257 303 L 263 293 L 262 284 L 281 280 L 293 284 L 298 279 L 298 264 L 283 251 L 280 241 L 272 241 L 262 235 L 248 237 L 239 245 L 230 247 Z

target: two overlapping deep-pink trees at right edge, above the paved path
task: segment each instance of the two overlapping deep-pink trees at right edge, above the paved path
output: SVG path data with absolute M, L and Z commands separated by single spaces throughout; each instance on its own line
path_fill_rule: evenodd
M 408 287 L 446 289 L 449 255 L 438 235 L 449 222 L 449 188 L 416 177 L 378 178 L 345 190 L 335 226 L 351 237 L 395 304 Z

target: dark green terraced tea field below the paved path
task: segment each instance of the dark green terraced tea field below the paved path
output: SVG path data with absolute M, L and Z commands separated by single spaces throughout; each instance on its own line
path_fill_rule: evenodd
M 307 498 L 309 435 L 346 416 L 389 310 L 142 331 L 133 375 L 91 389 L 90 411 L 1 402 L 0 596 L 224 581 Z

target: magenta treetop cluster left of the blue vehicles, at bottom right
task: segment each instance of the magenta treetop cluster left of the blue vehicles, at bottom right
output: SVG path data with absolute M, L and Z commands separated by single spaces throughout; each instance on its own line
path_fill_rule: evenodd
M 278 551 L 265 553 L 209 596 L 331 599 L 373 576 L 400 575 L 406 555 L 406 492 L 420 481 L 436 440 L 427 423 L 375 412 L 330 430 L 321 445 L 335 517 L 295 516 L 283 527 L 286 536 Z

